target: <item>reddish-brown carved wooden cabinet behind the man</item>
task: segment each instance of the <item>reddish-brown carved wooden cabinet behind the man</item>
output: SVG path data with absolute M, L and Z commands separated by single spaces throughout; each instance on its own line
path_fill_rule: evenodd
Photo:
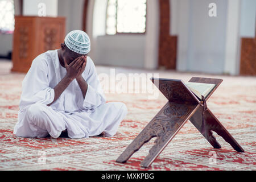
M 11 71 L 26 73 L 36 56 L 59 48 L 64 38 L 64 17 L 15 16 Z

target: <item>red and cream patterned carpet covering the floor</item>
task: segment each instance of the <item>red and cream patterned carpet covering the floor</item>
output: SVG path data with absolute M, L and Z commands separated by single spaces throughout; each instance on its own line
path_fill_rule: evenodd
M 108 102 L 121 101 L 128 108 L 127 117 L 113 138 L 21 138 L 15 137 L 23 73 L 10 73 L 10 61 L 0 61 L 0 170 L 255 170 L 256 169 L 256 77 L 217 76 L 174 71 L 155 71 L 159 77 L 188 81 L 192 76 L 222 78 L 224 81 L 208 100 L 208 107 L 241 144 L 244 153 L 238 153 L 214 133 L 221 144 L 214 149 L 187 121 L 174 139 L 152 163 L 150 168 L 140 167 L 154 139 L 127 163 L 115 159 L 125 150 L 156 113 L 166 104 L 159 93 L 156 100 L 148 100 L 148 93 L 115 94 L 106 90 Z M 98 73 L 110 74 L 109 67 L 97 67 Z M 115 68 L 118 73 L 151 73 L 150 71 Z M 153 75 L 154 76 L 154 75 Z M 156 89 L 156 88 L 155 88 Z M 109 91 L 109 93 L 108 93 Z M 112 90 L 113 91 L 113 90 Z M 156 91 L 158 91 L 156 89 Z M 139 92 L 139 93 L 138 93 Z

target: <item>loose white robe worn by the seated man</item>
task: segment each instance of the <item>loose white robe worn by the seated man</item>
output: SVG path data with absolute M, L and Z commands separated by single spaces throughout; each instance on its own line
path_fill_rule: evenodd
M 60 136 L 67 129 L 70 138 L 88 138 L 105 132 L 112 137 L 127 108 L 122 102 L 106 103 L 95 65 L 87 56 L 82 77 L 88 84 L 85 98 L 76 81 L 54 99 L 54 87 L 67 73 L 60 65 L 57 49 L 36 57 L 22 82 L 18 122 L 14 134 L 19 137 Z

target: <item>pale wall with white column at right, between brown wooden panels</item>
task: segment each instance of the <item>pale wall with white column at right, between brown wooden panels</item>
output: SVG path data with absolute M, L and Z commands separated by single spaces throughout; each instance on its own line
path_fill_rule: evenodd
M 209 17 L 209 3 L 217 17 Z M 177 70 L 239 75 L 241 37 L 255 37 L 255 0 L 171 0 Z

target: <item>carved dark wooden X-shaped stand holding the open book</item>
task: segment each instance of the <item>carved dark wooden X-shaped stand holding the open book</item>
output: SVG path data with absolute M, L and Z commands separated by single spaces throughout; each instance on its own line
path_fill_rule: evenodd
M 209 109 L 205 110 L 202 115 L 204 109 L 202 102 L 199 101 L 182 80 L 151 78 L 151 81 L 158 86 L 160 92 L 162 92 L 168 99 L 168 102 L 133 140 L 133 142 L 131 142 L 126 150 L 123 151 L 116 162 L 125 163 L 134 152 L 138 151 L 139 148 L 143 146 L 144 143 L 147 143 L 151 138 L 157 137 L 154 146 L 149 150 L 149 154 L 141 162 L 142 167 L 149 167 L 188 119 L 214 148 L 221 148 L 221 145 L 213 136 L 212 131 L 215 131 L 218 135 L 224 138 L 234 150 L 244 152 L 240 144 L 238 144 L 228 130 L 221 125 L 220 121 L 218 121 Z M 205 100 L 208 100 L 222 81 L 223 80 L 221 79 L 200 77 L 192 77 L 191 80 L 189 80 L 189 82 L 216 85 Z M 203 125 L 204 127 L 202 127 Z

